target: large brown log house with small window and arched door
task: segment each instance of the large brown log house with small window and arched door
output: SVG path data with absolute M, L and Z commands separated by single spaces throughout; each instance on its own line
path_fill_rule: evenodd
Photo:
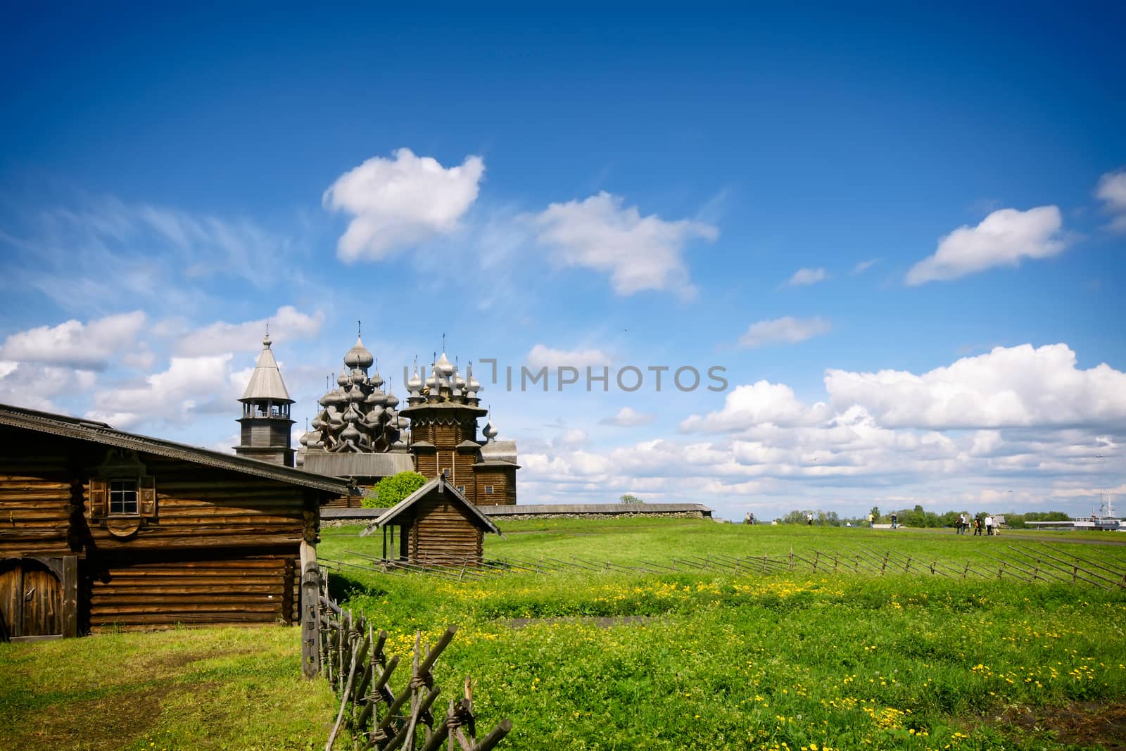
M 0 405 L 0 640 L 293 623 L 346 481 Z

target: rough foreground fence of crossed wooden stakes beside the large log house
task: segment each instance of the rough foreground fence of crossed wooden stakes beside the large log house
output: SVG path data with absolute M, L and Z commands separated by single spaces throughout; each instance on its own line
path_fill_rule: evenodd
M 436 710 L 441 691 L 431 670 L 453 641 L 454 626 L 429 646 L 422 644 L 420 633 L 414 634 L 410 677 L 395 692 L 391 683 L 400 658 L 387 658 L 384 652 L 387 632 L 376 633 L 363 616 L 352 616 L 329 599 L 328 572 L 319 576 L 315 571 L 306 572 L 303 584 L 312 584 L 313 576 L 319 579 L 313 600 L 318 604 L 316 623 L 314 628 L 303 631 L 303 638 L 315 634 L 315 642 L 305 642 L 303 659 L 306 673 L 315 668 L 313 672 L 328 679 L 340 697 L 325 751 L 331 751 L 342 730 L 351 735 L 354 749 L 365 751 L 438 751 L 444 746 L 449 751 L 489 751 L 512 730 L 512 723 L 503 719 L 476 740 L 473 685 L 468 678 L 463 697 L 449 699 L 445 712 Z

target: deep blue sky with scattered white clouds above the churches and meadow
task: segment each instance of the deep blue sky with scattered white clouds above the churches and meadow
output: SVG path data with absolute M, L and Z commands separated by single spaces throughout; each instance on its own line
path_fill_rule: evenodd
M 1111 3 L 18 12 L 2 402 L 230 447 L 267 321 L 303 422 L 363 320 L 548 367 L 522 502 L 1126 506 Z

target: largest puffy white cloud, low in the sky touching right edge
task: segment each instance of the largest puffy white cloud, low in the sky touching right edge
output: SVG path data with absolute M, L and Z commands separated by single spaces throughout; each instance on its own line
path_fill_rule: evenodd
M 1126 374 L 1076 368 L 1066 345 L 997 347 L 922 375 L 825 372 L 834 405 L 863 404 L 887 427 L 1096 426 L 1126 420 Z

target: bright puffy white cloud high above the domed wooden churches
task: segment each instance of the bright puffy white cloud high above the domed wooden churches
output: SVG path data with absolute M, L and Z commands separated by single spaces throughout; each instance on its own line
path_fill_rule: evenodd
M 476 200 L 484 171 L 480 157 L 444 168 L 410 149 L 395 151 L 394 159 L 368 159 L 324 191 L 327 207 L 354 217 L 337 254 L 348 262 L 379 260 L 399 248 L 454 232 Z

